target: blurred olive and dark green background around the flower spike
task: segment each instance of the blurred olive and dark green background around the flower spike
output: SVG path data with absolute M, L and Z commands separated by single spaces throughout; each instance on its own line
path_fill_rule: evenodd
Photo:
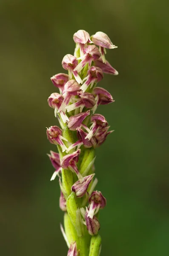
M 115 132 L 97 149 L 102 254 L 169 255 L 168 1 L 0 0 L 1 255 L 65 256 L 57 179 L 46 156 L 50 77 L 64 72 L 78 29 L 103 31 L 117 49 L 106 58 L 119 76 L 99 86 Z M 97 113 L 98 113 L 97 111 Z

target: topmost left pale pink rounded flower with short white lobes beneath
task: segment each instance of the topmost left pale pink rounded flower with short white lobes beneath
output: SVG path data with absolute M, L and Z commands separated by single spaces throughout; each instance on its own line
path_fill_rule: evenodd
M 85 30 L 78 30 L 73 35 L 73 40 L 76 43 L 76 48 L 74 51 L 74 56 L 77 57 L 78 49 L 80 49 L 80 56 L 84 55 L 84 49 L 87 47 L 87 44 L 92 44 L 93 42 L 90 40 L 90 35 Z

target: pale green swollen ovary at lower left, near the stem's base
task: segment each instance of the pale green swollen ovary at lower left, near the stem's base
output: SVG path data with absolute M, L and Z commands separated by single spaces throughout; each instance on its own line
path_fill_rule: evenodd
M 71 244 L 72 242 L 76 241 L 77 233 L 67 212 L 64 215 L 64 227 L 69 243 Z

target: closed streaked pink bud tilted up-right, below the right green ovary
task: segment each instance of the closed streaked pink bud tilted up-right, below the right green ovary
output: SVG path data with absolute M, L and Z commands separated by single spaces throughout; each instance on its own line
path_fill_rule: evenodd
M 83 197 L 86 194 L 88 186 L 94 176 L 95 174 L 91 174 L 84 177 L 84 180 L 82 183 L 80 183 L 80 181 L 77 180 L 72 186 L 72 192 L 75 192 L 76 196 L 79 198 Z

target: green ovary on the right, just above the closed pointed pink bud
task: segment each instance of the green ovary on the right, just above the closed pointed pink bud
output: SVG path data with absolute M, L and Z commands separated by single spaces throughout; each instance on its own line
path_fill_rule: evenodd
M 95 148 L 85 148 L 83 152 L 83 159 L 80 164 L 80 173 L 83 174 L 83 172 L 87 169 L 89 164 L 92 162 L 92 160 L 95 158 Z

